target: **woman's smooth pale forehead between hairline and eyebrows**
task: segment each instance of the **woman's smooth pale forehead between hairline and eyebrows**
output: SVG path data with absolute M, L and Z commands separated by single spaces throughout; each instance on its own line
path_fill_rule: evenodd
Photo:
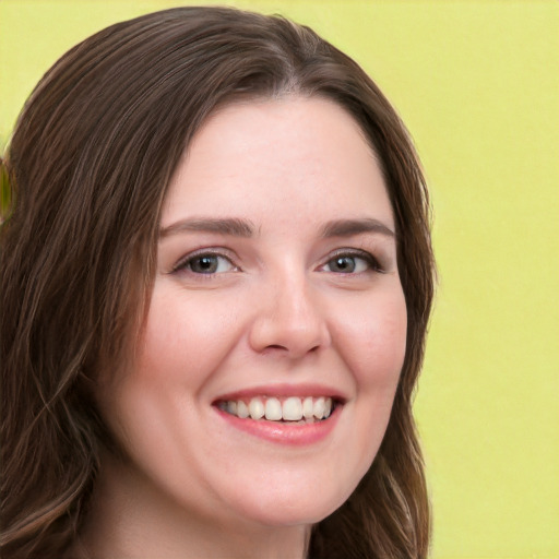
M 319 97 L 236 103 L 207 119 L 175 173 L 162 225 L 209 212 L 285 224 L 296 215 L 320 222 L 350 214 L 393 227 L 380 166 L 359 124 Z

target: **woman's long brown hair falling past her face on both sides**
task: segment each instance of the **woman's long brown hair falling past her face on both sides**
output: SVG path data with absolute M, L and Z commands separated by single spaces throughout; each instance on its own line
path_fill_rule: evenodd
M 229 8 L 176 8 L 67 52 L 20 116 L 0 230 L 1 536 L 5 559 L 62 557 L 110 436 L 92 386 L 118 370 L 148 306 L 171 175 L 207 116 L 240 98 L 322 96 L 359 123 L 394 210 L 408 332 L 379 453 L 312 531 L 309 557 L 425 558 L 429 506 L 412 400 L 435 265 L 408 134 L 365 72 L 308 27 Z

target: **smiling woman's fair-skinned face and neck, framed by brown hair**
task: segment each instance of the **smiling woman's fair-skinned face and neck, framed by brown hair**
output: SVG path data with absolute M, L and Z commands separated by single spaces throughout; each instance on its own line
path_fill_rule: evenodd
M 332 102 L 204 123 L 163 207 L 141 349 L 99 388 L 128 460 L 104 457 L 93 557 L 304 557 L 390 417 L 406 340 L 393 231 L 373 153 Z

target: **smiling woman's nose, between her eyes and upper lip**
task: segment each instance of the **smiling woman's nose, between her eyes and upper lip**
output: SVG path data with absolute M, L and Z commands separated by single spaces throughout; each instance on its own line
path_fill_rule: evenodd
M 254 305 L 258 307 L 249 333 L 253 350 L 273 349 L 299 359 L 331 344 L 324 309 L 304 277 L 275 278 L 273 287 L 264 289 Z

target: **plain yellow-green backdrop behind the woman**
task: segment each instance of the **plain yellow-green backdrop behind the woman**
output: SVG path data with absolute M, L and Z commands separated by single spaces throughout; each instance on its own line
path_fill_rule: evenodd
M 64 50 L 185 3 L 0 0 L 0 145 Z M 440 271 L 416 400 L 432 557 L 559 558 L 559 2 L 221 3 L 310 24 L 416 141 Z

